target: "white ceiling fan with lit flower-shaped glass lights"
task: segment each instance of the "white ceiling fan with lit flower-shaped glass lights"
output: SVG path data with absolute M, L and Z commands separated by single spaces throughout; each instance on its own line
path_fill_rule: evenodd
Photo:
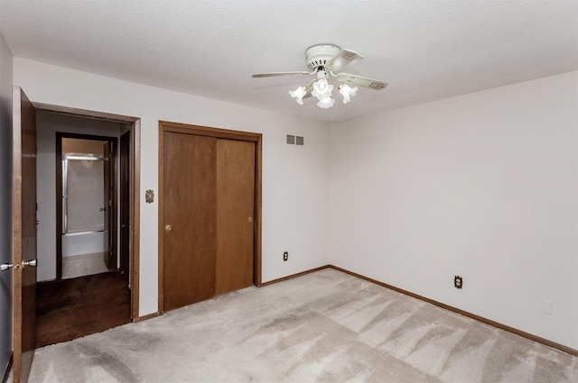
M 373 78 L 364 78 L 350 73 L 335 73 L 347 67 L 350 63 L 363 59 L 363 56 L 356 51 L 341 50 L 340 47 L 332 44 L 313 45 L 305 51 L 305 59 L 309 68 L 312 69 L 311 72 L 297 70 L 291 72 L 256 73 L 253 78 L 316 75 L 317 78 L 312 79 L 306 85 L 290 90 L 289 95 L 294 97 L 299 105 L 303 105 L 303 98 L 315 96 L 318 100 L 317 106 L 321 108 L 331 108 L 335 104 L 335 100 L 331 98 L 333 84 L 337 85 L 341 96 L 343 96 L 343 104 L 349 103 L 351 96 L 357 94 L 358 86 L 374 90 L 381 90 L 387 87 L 386 83 Z M 336 81 L 331 81 L 330 76 L 331 78 L 336 78 Z M 350 85 L 353 87 L 350 87 Z

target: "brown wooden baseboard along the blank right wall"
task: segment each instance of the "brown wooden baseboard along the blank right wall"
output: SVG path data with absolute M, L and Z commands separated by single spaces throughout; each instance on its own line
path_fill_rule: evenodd
M 489 324 L 490 326 L 499 328 L 500 330 L 504 330 L 507 331 L 508 333 L 515 333 L 516 335 L 519 335 L 523 338 L 527 338 L 530 341 L 534 341 L 534 342 L 538 342 L 538 343 L 542 343 L 545 346 L 548 347 L 552 347 L 554 349 L 558 349 L 560 351 L 564 351 L 567 352 L 573 356 L 578 356 L 578 350 L 573 349 L 572 347 L 568 347 L 568 346 L 564 346 L 564 344 L 560 344 L 560 343 L 556 343 L 556 342 L 552 342 L 552 341 L 548 341 L 545 338 L 539 337 L 537 335 L 534 335 L 533 333 L 526 333 L 522 330 L 518 330 L 517 328 L 514 327 L 510 327 L 506 324 L 500 324 L 499 322 L 496 321 L 492 321 L 491 319 L 488 318 L 484 318 L 483 316 L 480 315 L 475 315 L 475 314 L 471 314 L 467 311 L 461 310 L 460 308 L 457 307 L 453 307 L 452 305 L 445 305 L 442 302 L 438 302 L 436 300 L 430 299 L 428 297 L 425 296 L 420 296 L 417 294 L 414 294 L 410 291 L 404 290 L 403 288 L 399 288 L 399 287 L 395 287 L 392 285 L 389 285 L 387 283 L 381 282 L 377 279 L 373 279 L 373 278 L 368 278 L 366 276 L 363 276 L 361 274 L 358 273 L 354 273 L 353 271 L 347 270 L 347 269 L 341 269 L 337 266 L 333 266 L 333 265 L 328 265 L 327 267 L 331 268 L 331 269 L 336 269 L 338 271 L 344 272 L 346 274 L 350 274 L 353 277 L 357 277 L 357 278 L 361 278 L 361 279 L 365 279 L 368 282 L 371 283 L 375 283 L 376 285 L 382 286 L 382 287 L 387 287 L 391 290 L 397 291 L 398 293 L 401 294 L 405 294 L 406 296 L 412 296 L 416 299 L 420 299 L 423 300 L 424 302 L 430 303 L 432 305 L 437 305 L 438 307 L 442 307 L 443 309 L 452 311 L 453 313 L 459 314 L 459 315 L 463 315 L 463 316 L 467 316 L 471 319 L 475 319 L 478 322 L 481 322 L 482 324 Z M 325 268 L 321 268 L 321 269 L 325 269 Z

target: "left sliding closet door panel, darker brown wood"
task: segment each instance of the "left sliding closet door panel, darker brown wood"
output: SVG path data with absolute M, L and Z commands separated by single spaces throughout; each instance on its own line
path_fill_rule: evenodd
M 217 139 L 163 133 L 163 309 L 215 295 Z

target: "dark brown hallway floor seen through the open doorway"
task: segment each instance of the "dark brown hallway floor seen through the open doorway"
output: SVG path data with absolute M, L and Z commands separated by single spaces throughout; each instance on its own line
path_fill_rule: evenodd
M 107 272 L 39 283 L 36 347 L 100 333 L 130 322 L 128 276 Z

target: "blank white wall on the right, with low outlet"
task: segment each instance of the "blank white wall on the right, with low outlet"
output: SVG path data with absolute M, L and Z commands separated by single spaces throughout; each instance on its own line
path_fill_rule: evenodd
M 331 261 L 578 349 L 577 85 L 572 72 L 334 123 Z

